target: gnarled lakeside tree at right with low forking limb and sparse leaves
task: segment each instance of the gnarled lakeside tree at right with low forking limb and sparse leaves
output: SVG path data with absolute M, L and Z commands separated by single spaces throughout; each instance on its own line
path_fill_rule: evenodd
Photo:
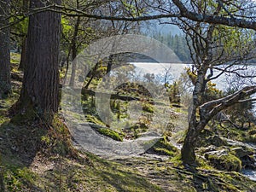
M 225 12 L 221 3 L 211 1 L 193 2 L 191 7 L 199 14 L 211 11 L 218 16 Z M 230 9 L 234 11 L 236 8 L 230 7 Z M 212 117 L 236 103 L 249 102 L 246 99 L 247 96 L 256 92 L 256 86 L 251 85 L 229 96 L 213 98 L 209 96 L 207 89 L 211 86 L 211 80 L 218 79 L 224 73 L 236 73 L 238 64 L 246 66 L 246 61 L 252 56 L 250 50 L 255 48 L 255 44 L 253 39 L 248 40 L 252 33 L 247 30 L 204 24 L 201 21 L 180 20 L 179 26 L 188 36 L 188 45 L 195 69 L 193 70 L 195 79 L 192 79 L 195 85 L 193 103 L 189 117 L 189 129 L 182 148 L 182 159 L 184 163 L 194 164 L 196 142 Z M 232 67 L 236 69 L 232 70 Z M 215 74 L 214 70 L 219 70 L 220 73 Z

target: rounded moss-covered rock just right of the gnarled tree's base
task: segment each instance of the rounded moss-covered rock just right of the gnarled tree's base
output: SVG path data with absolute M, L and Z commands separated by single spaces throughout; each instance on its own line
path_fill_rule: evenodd
M 205 157 L 219 170 L 241 172 L 241 160 L 227 149 L 207 152 Z

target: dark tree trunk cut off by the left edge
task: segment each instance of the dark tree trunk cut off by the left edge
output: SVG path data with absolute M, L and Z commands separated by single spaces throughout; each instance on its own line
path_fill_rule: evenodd
M 9 0 L 0 1 L 0 27 L 8 26 Z M 9 27 L 0 31 L 0 98 L 11 91 Z

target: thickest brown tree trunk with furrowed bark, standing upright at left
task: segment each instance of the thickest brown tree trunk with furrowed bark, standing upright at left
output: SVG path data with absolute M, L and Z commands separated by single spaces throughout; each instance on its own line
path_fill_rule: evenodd
M 31 0 L 31 6 L 40 8 L 44 4 Z M 23 113 L 31 107 L 43 116 L 58 110 L 60 26 L 61 15 L 55 12 L 46 11 L 29 18 L 26 70 L 18 102 Z

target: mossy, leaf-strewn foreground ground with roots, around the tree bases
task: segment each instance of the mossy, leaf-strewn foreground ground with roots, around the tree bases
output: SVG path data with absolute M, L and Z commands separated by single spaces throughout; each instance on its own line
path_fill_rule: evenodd
M 256 182 L 201 158 L 198 166 L 184 166 L 180 151 L 106 159 L 74 146 L 59 117 L 53 125 L 19 124 L 9 108 L 20 86 L 13 79 L 13 95 L 0 101 L 0 191 L 256 191 Z

